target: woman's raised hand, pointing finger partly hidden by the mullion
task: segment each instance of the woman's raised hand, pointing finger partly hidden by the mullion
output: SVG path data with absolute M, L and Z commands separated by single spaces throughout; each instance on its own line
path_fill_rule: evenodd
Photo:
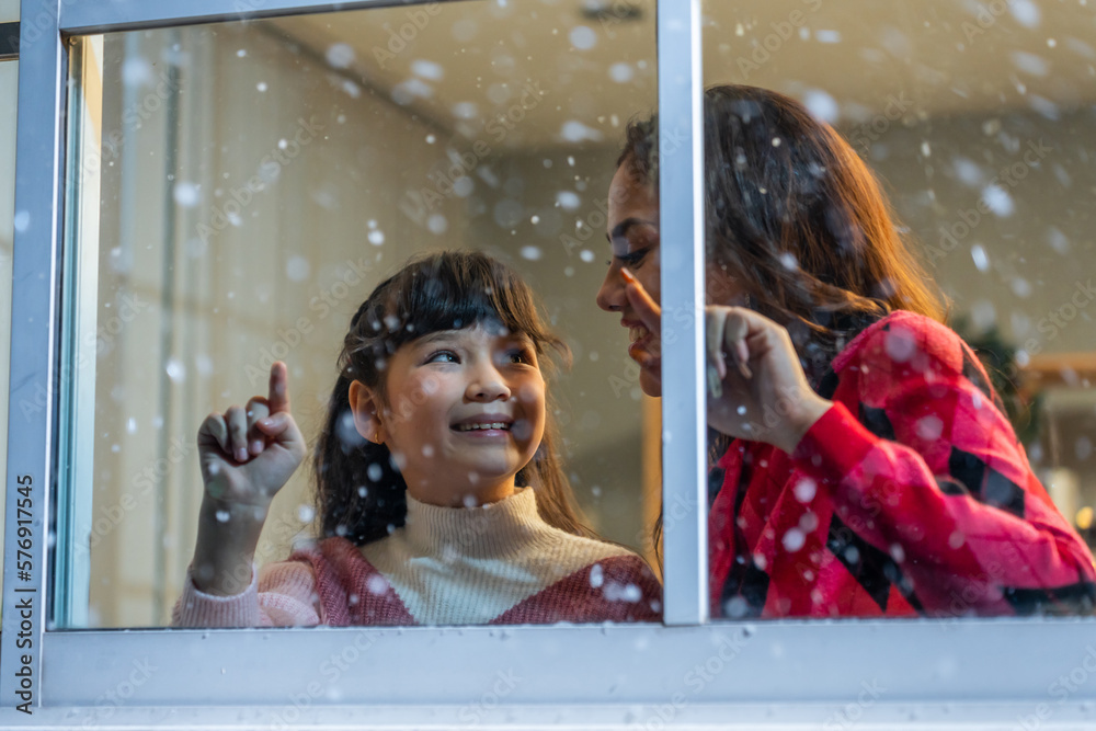
M 661 309 L 630 272 L 628 301 L 651 330 Z M 708 425 L 791 454 L 832 406 L 807 382 L 788 331 L 744 307 L 705 307 Z

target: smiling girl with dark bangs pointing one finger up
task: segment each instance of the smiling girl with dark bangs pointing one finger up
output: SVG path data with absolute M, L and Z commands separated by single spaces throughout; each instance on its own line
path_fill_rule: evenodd
M 579 521 L 541 366 L 569 355 L 529 287 L 479 253 L 412 261 L 351 321 L 316 449 L 323 539 L 252 571 L 305 454 L 286 368 L 198 431 L 205 496 L 184 627 L 655 621 L 638 556 Z

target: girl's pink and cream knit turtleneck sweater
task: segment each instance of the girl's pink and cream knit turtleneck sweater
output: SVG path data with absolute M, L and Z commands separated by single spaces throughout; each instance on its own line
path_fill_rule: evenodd
M 536 515 L 532 491 L 523 492 L 501 506 L 473 509 L 480 514 L 471 521 L 466 509 L 423 506 L 410 500 L 408 526 L 397 534 L 364 549 L 344 538 L 328 538 L 294 552 L 287 561 L 264 567 L 244 592 L 233 596 L 199 592 L 187 576 L 172 624 L 344 627 L 661 620 L 661 586 L 641 558 L 548 526 Z M 460 540 L 469 525 L 477 529 L 475 542 Z M 386 567 L 388 575 L 363 553 Z

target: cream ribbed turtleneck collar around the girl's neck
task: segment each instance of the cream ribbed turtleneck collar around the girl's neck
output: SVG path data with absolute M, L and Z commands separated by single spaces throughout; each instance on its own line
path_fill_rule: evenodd
M 421 556 L 505 558 L 552 532 L 532 488 L 477 507 L 442 507 L 407 496 L 408 544 Z

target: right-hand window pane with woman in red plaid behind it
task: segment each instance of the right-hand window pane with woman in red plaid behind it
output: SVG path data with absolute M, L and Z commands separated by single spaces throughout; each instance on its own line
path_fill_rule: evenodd
M 812 386 L 757 400 L 770 364 L 730 362 L 719 614 L 1091 613 L 1091 12 L 705 9 L 707 288 L 785 325 L 770 362 Z

